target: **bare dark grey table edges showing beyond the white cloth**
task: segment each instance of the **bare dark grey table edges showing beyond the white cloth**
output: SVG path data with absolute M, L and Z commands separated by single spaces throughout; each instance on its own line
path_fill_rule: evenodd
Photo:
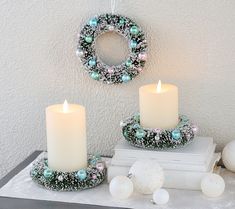
M 16 166 L 5 177 L 0 180 L 0 188 L 3 187 L 12 177 L 18 174 L 29 163 L 31 163 L 41 151 L 35 151 L 22 163 Z M 57 201 L 32 200 L 21 198 L 10 198 L 0 196 L 0 209 L 118 209 L 118 207 L 104 207 L 99 205 L 75 204 Z M 120 208 L 119 208 L 120 209 Z

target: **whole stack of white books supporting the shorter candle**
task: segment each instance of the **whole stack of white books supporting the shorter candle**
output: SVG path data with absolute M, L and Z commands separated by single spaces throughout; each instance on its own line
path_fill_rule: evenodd
M 199 190 L 203 176 L 215 172 L 220 160 L 221 154 L 215 153 L 215 147 L 210 137 L 196 137 L 185 147 L 166 151 L 140 149 L 120 140 L 108 166 L 108 181 L 117 175 L 128 175 L 137 160 L 155 159 L 164 169 L 163 187 Z

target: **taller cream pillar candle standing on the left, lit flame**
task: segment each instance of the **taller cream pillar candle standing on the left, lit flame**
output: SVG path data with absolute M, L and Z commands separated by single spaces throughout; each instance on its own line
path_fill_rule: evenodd
M 46 108 L 48 166 L 71 172 L 87 167 L 85 108 L 77 104 Z

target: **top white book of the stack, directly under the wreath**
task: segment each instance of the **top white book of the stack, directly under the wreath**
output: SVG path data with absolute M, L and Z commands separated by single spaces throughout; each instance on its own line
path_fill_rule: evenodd
M 120 140 L 114 148 L 115 159 L 152 158 L 159 162 L 205 164 L 214 149 L 213 138 L 195 137 L 191 144 L 171 150 L 147 150 L 134 147 Z

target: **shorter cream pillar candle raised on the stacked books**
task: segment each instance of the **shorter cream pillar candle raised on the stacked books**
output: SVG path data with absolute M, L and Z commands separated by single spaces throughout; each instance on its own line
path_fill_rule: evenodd
M 139 89 L 140 124 L 146 128 L 170 129 L 178 124 L 178 88 L 149 84 Z

